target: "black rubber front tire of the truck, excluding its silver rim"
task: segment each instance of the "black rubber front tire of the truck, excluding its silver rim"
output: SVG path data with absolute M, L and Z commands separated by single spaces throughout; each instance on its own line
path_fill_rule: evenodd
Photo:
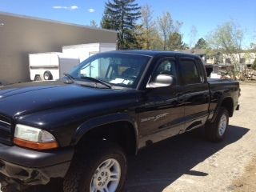
M 88 147 L 89 146 L 89 147 Z M 88 143 L 87 146 L 79 147 L 74 155 L 63 182 L 64 192 L 90 192 L 90 184 L 98 166 L 107 159 L 114 158 L 121 167 L 121 178 L 115 191 L 122 191 L 126 180 L 126 155 L 123 150 L 108 142 L 101 142 L 101 145 Z

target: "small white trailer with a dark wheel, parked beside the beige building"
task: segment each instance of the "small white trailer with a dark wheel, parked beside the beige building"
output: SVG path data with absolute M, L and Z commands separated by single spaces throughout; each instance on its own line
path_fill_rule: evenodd
M 57 80 L 80 63 L 74 55 L 58 52 L 29 54 L 32 81 Z

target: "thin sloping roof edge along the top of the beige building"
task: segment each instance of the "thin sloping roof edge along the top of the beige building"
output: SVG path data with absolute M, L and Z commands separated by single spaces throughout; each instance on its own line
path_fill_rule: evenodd
M 6 16 L 15 17 L 15 18 L 27 18 L 27 19 L 31 19 L 31 20 L 37 20 L 40 22 L 52 22 L 52 23 L 57 23 L 57 24 L 62 24 L 62 25 L 67 25 L 67 26 L 78 26 L 78 27 L 82 27 L 82 28 L 90 29 L 90 30 L 103 30 L 103 31 L 105 30 L 105 31 L 116 33 L 116 34 L 118 33 L 118 31 L 116 31 L 116 30 L 106 30 L 106 29 L 97 28 L 97 27 L 93 27 L 93 26 L 83 26 L 83 25 L 78 25 L 78 24 L 74 24 L 74 23 L 70 23 L 70 22 L 60 22 L 60 21 L 46 19 L 46 18 L 36 18 L 36 17 L 26 16 L 26 15 L 11 14 L 11 13 L 6 13 L 6 12 L 0 11 L 0 16 L 1 15 L 6 15 Z M 0 23 L 2 23 L 1 20 L 0 20 Z M 2 25 L 4 25 L 4 23 L 2 23 Z

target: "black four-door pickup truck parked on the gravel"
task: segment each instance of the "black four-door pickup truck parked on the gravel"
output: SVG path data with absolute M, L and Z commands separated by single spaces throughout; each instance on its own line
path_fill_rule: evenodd
M 127 155 L 198 127 L 221 141 L 239 95 L 238 82 L 207 80 L 198 56 L 142 50 L 96 54 L 55 82 L 2 86 L 2 190 L 62 178 L 65 192 L 122 191 Z

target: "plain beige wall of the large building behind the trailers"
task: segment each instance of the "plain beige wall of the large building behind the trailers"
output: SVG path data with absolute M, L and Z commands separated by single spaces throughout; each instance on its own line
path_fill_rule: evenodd
M 30 80 L 28 54 L 61 52 L 62 46 L 116 42 L 117 33 L 0 13 L 0 82 Z

